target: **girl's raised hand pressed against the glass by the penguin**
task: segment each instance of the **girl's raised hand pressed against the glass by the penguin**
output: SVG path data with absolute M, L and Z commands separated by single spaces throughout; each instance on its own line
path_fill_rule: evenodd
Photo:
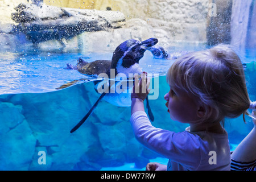
M 141 74 L 141 80 L 138 79 L 138 75 L 134 76 L 134 86 L 133 92 L 131 93 L 131 100 L 133 98 L 140 98 L 141 100 L 145 100 L 148 93 L 150 92 L 150 78 L 147 77 L 147 73 L 143 72 Z

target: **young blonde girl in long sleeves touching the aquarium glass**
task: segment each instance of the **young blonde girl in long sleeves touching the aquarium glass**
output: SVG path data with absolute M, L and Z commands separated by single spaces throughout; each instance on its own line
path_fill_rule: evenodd
M 143 86 L 150 80 L 142 74 Z M 135 79 L 138 79 L 135 76 Z M 247 113 L 250 99 L 240 58 L 228 46 L 180 57 L 167 72 L 170 85 L 164 99 L 170 118 L 189 127 L 180 133 L 155 128 L 144 112 L 147 93 L 131 94 L 131 126 L 144 146 L 170 159 L 168 166 L 147 164 L 147 170 L 230 170 L 228 134 L 224 118 Z M 138 89 L 137 89 L 138 90 Z M 244 119 L 244 117 L 243 117 Z

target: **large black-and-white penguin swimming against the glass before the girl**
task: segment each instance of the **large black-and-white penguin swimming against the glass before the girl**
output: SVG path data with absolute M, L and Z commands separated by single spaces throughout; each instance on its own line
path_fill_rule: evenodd
M 142 59 L 144 56 L 144 52 L 158 43 L 158 39 L 150 38 L 140 42 L 138 40 L 130 39 L 126 40 L 122 44 L 120 44 L 114 51 L 112 60 L 96 60 L 93 62 L 86 62 L 82 59 L 78 60 L 76 67 L 73 67 L 70 64 L 67 64 L 67 69 L 77 69 L 82 74 L 90 75 L 90 76 L 99 76 L 100 74 L 104 73 L 109 78 L 117 76 L 118 74 L 125 75 L 127 78 L 129 77 L 129 73 L 138 73 L 139 75 L 142 73 L 142 68 L 139 66 L 139 60 Z M 114 73 L 113 73 L 114 71 Z M 102 81 L 94 81 L 94 89 L 98 92 L 98 86 L 104 82 Z M 111 82 L 111 79 L 110 81 Z M 120 82 L 120 80 L 119 80 Z M 119 84 L 118 81 L 115 81 L 114 85 L 108 84 L 108 89 L 110 90 L 112 86 L 116 86 Z M 129 81 L 128 81 L 129 82 Z M 104 85 L 105 86 L 105 85 Z M 133 86 L 133 85 L 132 85 Z M 97 89 L 96 89 L 97 88 Z M 127 89 L 129 88 L 127 85 Z M 85 115 L 84 118 L 70 131 L 73 133 L 76 131 L 82 123 L 89 117 L 89 115 L 93 112 L 93 110 L 97 107 L 98 103 L 104 98 L 106 101 L 110 102 L 111 104 L 117 106 L 130 106 L 131 105 L 131 98 L 130 93 L 127 91 L 126 93 L 101 93 L 100 98 L 96 101 L 93 107 L 89 110 L 89 112 Z M 154 116 L 150 109 L 150 105 L 148 104 L 148 97 L 146 98 L 146 106 L 148 110 L 148 116 L 151 121 L 154 121 Z

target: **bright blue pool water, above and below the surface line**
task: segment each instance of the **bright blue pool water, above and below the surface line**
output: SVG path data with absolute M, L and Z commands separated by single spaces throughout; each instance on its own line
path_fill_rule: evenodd
M 99 97 L 92 77 L 65 69 L 67 63 L 75 65 L 80 56 L 86 61 L 110 60 L 112 52 L 0 53 L 1 170 L 144 170 L 148 162 L 167 163 L 167 159 L 147 150 L 134 138 L 130 107 L 101 101 L 88 121 L 75 133 L 69 133 Z M 243 60 L 253 101 L 255 60 Z M 143 71 L 159 74 L 159 98 L 150 100 L 153 125 L 179 132 L 187 125 L 170 121 L 163 99 L 169 89 L 164 74 L 173 62 L 155 60 L 147 52 L 140 65 Z M 86 80 L 56 90 L 81 78 Z M 241 117 L 226 121 L 232 150 L 253 127 L 249 118 L 247 121 L 243 123 Z M 39 151 L 46 152 L 46 164 L 39 164 Z

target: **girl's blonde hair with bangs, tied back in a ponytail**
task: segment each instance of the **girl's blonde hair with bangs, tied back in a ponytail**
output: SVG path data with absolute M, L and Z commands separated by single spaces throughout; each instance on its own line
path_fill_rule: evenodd
M 192 52 L 167 72 L 167 82 L 196 96 L 205 107 L 205 121 L 249 115 L 250 98 L 238 55 L 226 45 Z

